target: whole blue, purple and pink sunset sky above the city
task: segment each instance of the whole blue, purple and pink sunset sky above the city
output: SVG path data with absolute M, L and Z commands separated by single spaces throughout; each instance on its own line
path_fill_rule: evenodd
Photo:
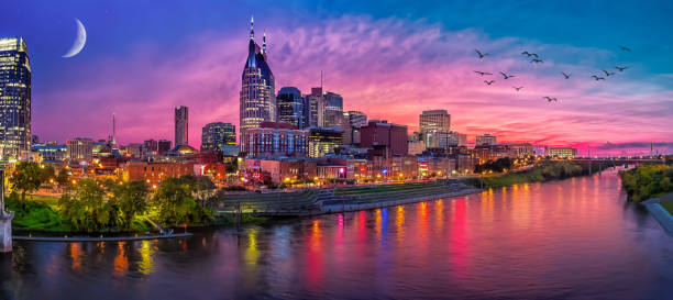
M 239 124 L 251 15 L 277 89 L 308 93 L 322 71 L 345 110 L 409 132 L 445 109 L 470 140 L 673 153 L 672 1 L 11 1 L 0 36 L 29 45 L 41 141 L 104 138 L 112 113 L 122 144 L 173 140 L 173 109 L 187 105 L 198 147 L 205 124 Z M 75 18 L 87 43 L 64 58 Z

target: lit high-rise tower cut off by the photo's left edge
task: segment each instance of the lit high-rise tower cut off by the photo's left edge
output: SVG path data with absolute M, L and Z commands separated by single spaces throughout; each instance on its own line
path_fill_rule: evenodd
M 0 156 L 31 149 L 31 64 L 23 37 L 0 37 Z

